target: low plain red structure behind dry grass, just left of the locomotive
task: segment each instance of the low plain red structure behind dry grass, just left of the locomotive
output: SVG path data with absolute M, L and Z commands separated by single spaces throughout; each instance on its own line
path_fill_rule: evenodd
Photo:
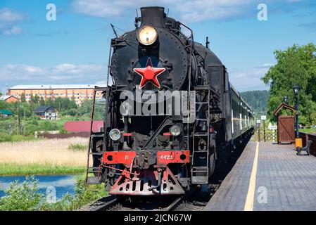
M 91 121 L 68 121 L 63 127 L 70 133 L 90 132 Z M 103 120 L 93 122 L 92 131 L 99 132 L 103 127 Z

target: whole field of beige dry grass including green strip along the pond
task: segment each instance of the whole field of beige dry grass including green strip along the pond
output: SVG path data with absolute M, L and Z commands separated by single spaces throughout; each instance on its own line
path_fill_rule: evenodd
M 88 142 L 86 138 L 71 138 L 0 143 L 0 175 L 84 172 L 87 148 L 82 146 Z

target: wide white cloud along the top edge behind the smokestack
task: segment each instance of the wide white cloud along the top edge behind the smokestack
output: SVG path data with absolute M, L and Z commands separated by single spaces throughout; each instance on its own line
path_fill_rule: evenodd
M 270 0 L 297 2 L 301 0 Z M 257 5 L 262 0 L 195 0 L 195 1 L 167 1 L 167 0 L 72 0 L 72 9 L 77 13 L 101 18 L 122 16 L 127 11 L 134 12 L 141 6 L 165 6 L 172 14 L 179 14 L 184 22 L 198 22 L 202 20 L 223 20 L 236 18 L 249 13 L 257 13 Z

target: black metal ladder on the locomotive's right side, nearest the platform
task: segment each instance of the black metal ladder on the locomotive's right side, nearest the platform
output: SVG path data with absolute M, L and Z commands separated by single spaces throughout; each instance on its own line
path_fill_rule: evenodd
M 194 124 L 194 131 L 192 134 L 193 145 L 192 145 L 192 167 L 191 167 L 191 182 L 192 184 L 208 184 L 209 176 L 209 160 L 210 160 L 210 86 L 209 85 L 200 85 L 194 88 L 196 95 L 205 96 L 201 101 L 196 101 L 196 114 L 204 107 L 206 108 L 206 118 L 197 118 Z M 196 132 L 196 127 L 199 122 L 205 122 L 203 125 L 206 125 L 207 129 L 204 131 Z M 196 149 L 196 141 L 204 139 L 206 141 L 206 149 L 198 150 Z M 205 160 L 203 160 L 205 159 Z

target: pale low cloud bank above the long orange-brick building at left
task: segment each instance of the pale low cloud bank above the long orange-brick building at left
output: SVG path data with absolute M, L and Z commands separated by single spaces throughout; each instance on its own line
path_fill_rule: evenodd
M 0 86 L 16 84 L 90 84 L 106 79 L 106 65 L 72 65 L 64 63 L 41 68 L 8 64 L 0 67 Z

